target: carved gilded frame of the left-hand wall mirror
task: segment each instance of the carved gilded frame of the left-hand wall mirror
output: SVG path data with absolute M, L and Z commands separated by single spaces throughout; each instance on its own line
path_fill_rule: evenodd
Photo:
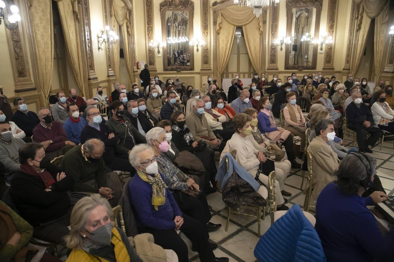
M 160 3 L 160 16 L 162 19 L 162 42 L 163 45 L 163 70 L 164 71 L 193 71 L 194 70 L 194 48 L 190 47 L 190 66 L 168 66 L 167 63 L 167 25 L 165 13 L 167 11 L 189 12 L 189 40 L 193 38 L 194 3 L 191 0 L 164 0 Z

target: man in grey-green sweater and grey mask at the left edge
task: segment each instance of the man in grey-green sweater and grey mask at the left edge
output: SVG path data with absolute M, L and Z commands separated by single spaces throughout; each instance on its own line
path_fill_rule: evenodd
M 14 172 L 20 168 L 19 148 L 25 144 L 20 138 L 13 138 L 11 126 L 0 122 L 0 163 L 4 166 L 4 179 L 11 183 Z

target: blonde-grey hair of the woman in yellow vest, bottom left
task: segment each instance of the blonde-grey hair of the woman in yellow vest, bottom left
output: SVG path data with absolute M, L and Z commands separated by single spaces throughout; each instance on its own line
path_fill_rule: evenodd
M 81 198 L 72 208 L 70 217 L 70 233 L 64 237 L 69 249 L 82 248 L 83 238 L 80 234 L 80 230 L 85 230 L 89 214 L 93 209 L 99 206 L 104 207 L 111 219 L 112 226 L 115 225 L 116 222 L 113 216 L 113 211 L 108 200 L 102 198 L 100 194 L 92 194 Z

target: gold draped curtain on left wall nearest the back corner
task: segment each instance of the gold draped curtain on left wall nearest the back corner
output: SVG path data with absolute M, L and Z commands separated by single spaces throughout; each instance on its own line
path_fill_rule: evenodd
M 130 56 L 130 43 L 129 43 L 129 36 L 131 35 L 130 33 L 130 21 L 128 19 L 129 15 L 129 10 L 127 10 L 127 7 L 121 0 L 114 0 L 113 5 L 112 5 L 112 10 L 113 10 L 113 19 L 112 19 L 112 25 L 113 27 L 116 26 L 116 30 L 114 28 L 113 31 L 117 32 L 117 35 L 119 35 L 119 26 L 121 27 L 121 33 L 122 33 L 122 40 L 123 40 L 123 53 L 125 55 L 125 62 L 126 62 L 126 68 L 128 71 L 128 75 L 130 77 L 130 82 L 134 82 L 134 75 L 133 75 L 133 64 L 134 64 L 134 59 Z M 117 26 L 119 25 L 119 26 Z M 115 46 L 114 46 L 115 47 Z M 117 43 L 117 55 L 115 55 L 115 50 L 114 50 L 114 57 L 115 59 L 115 75 L 119 79 L 119 42 Z

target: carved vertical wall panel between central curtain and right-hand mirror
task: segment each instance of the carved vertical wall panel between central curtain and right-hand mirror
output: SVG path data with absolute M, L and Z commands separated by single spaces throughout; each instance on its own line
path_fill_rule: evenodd
M 276 5 L 269 6 L 269 13 L 271 16 L 271 26 L 269 35 L 269 59 L 267 70 L 278 70 L 278 47 L 275 44 L 275 39 L 278 37 L 278 26 L 279 26 L 279 3 Z

